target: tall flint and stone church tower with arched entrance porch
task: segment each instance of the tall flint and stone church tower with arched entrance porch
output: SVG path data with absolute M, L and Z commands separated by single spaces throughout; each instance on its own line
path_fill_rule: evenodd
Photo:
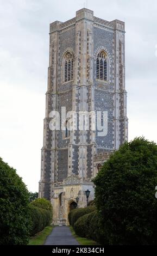
M 49 32 L 48 90 L 41 150 L 39 197 L 51 200 L 54 224 L 68 224 L 68 212 L 94 198 L 91 182 L 112 151 L 128 139 L 125 91 L 124 22 L 105 21 L 81 9 L 66 22 L 55 21 Z M 107 111 L 108 132 L 52 131 L 50 113 Z M 101 117 L 102 119 L 102 117 Z M 69 120 L 64 120 L 65 124 Z M 77 117 L 79 121 L 79 117 Z

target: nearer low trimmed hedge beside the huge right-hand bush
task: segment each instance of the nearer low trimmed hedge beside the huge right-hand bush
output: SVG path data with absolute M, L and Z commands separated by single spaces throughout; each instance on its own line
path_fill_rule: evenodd
M 99 223 L 99 216 L 97 211 L 92 211 L 78 218 L 74 224 L 74 231 L 77 235 L 95 240 L 97 242 L 104 241 L 101 231 L 101 224 Z M 107 241 L 105 242 L 108 243 Z

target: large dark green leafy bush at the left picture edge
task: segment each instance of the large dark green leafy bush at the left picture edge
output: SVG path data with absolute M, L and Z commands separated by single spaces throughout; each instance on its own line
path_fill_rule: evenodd
M 30 218 L 26 185 L 0 158 L 0 245 L 26 245 Z

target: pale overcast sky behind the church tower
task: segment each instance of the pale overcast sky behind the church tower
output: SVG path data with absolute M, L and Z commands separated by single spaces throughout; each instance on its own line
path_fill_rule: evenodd
M 156 0 L 0 0 L 0 156 L 30 191 L 40 180 L 49 23 L 86 6 L 101 19 L 125 21 L 129 140 L 157 143 Z

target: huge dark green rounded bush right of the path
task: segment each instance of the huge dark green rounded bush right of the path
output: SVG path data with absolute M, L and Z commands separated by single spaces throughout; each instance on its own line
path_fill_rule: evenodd
M 157 244 L 157 145 L 135 138 L 94 180 L 102 232 L 110 245 Z

